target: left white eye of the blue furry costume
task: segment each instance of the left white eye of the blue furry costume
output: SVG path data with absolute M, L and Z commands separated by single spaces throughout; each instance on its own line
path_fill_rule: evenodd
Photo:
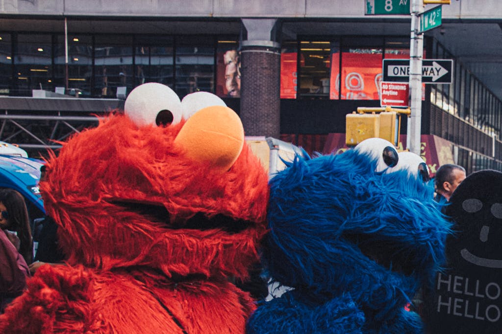
M 360 154 L 367 154 L 372 159 L 377 160 L 377 172 L 383 172 L 389 167 L 394 167 L 399 161 L 398 151 L 396 151 L 394 145 L 382 138 L 365 139 L 357 144 L 355 150 Z

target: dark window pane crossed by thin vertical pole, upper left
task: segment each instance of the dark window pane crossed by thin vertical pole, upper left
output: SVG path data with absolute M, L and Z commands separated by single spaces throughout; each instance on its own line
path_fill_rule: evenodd
M 64 36 L 57 37 L 54 58 L 54 86 L 66 87 L 66 51 Z M 83 97 L 91 95 L 92 38 L 68 36 L 68 89 Z M 69 92 L 66 92 L 69 94 Z

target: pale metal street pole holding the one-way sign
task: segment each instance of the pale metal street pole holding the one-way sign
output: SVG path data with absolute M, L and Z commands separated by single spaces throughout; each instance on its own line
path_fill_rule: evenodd
M 424 11 L 423 0 L 411 1 L 411 43 L 410 43 L 410 109 L 406 147 L 420 155 L 420 131 L 422 125 L 422 56 L 424 36 L 419 34 L 420 15 Z

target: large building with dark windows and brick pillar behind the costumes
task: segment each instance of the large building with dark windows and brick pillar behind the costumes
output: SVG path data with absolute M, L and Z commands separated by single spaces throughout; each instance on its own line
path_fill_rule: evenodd
M 502 71 L 502 5 L 472 3 L 443 5 L 442 26 L 424 34 L 424 59 L 453 60 L 453 79 L 423 85 L 421 124 L 421 133 L 429 136 L 424 156 L 431 146 L 427 138 L 437 137 L 450 152 L 446 160 L 434 158 L 436 165 L 455 162 L 469 173 L 502 170 L 502 84 L 496 78 Z M 345 132 L 346 114 L 380 106 L 382 61 L 410 58 L 410 16 L 365 15 L 366 4 L 4 1 L 0 94 L 13 99 L 0 99 L 6 114 L 0 140 L 25 148 L 50 146 L 47 139 L 61 136 L 54 137 L 52 126 L 35 134 L 32 129 L 43 128 L 37 123 L 77 115 L 71 105 L 82 99 L 119 107 L 115 101 L 134 87 L 159 82 L 180 98 L 196 91 L 222 97 L 240 115 L 247 135 L 328 153 L 342 145 L 332 138 Z M 64 93 L 65 98 L 46 98 L 62 98 L 64 106 L 26 107 L 34 90 Z M 100 111 L 82 107 L 77 116 Z M 18 116 L 28 134 L 10 115 Z M 406 134 L 406 119 L 401 129 Z

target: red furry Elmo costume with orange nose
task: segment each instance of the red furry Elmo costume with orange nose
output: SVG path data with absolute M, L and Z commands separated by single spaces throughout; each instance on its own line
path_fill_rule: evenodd
M 125 115 L 49 159 L 40 187 L 67 265 L 41 266 L 0 332 L 244 331 L 256 306 L 231 281 L 259 260 L 268 175 L 231 109 L 181 105 L 139 86 Z

